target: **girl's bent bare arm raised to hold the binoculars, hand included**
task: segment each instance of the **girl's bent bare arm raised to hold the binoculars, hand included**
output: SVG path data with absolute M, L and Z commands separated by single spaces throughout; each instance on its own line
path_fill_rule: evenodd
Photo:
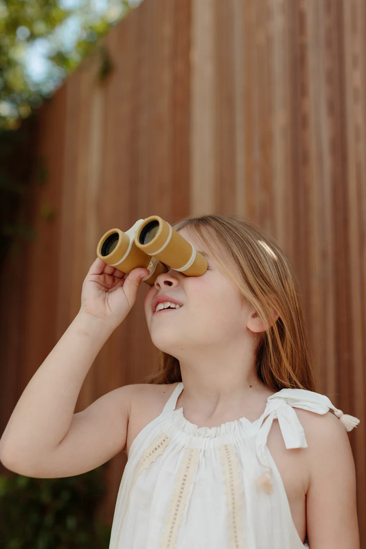
M 118 450 L 119 444 L 123 447 L 129 398 L 126 389 L 119 390 L 120 395 L 102 397 L 79 414 L 73 412 L 95 357 L 130 312 L 140 277 L 147 272 L 136 268 L 126 277 L 101 259 L 94 261 L 82 285 L 80 312 L 25 387 L 1 436 L 0 460 L 5 467 L 25 476 L 67 476 L 78 474 L 73 471 L 81 473 L 83 467 L 97 467 Z M 118 397 L 124 397 L 119 412 L 115 404 Z M 98 458 L 85 459 L 82 465 L 77 450 L 84 452 L 84 445 L 89 443 L 89 450 L 95 451 L 92 437 L 103 425 L 108 430 L 111 410 L 122 414 L 119 431 L 111 443 L 105 441 L 106 448 L 100 448 Z M 63 469 L 59 456 L 67 460 Z

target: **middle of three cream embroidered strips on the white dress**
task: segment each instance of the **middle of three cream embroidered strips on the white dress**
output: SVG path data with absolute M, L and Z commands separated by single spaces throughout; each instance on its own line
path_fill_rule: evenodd
M 185 506 L 191 493 L 192 481 L 200 451 L 199 448 L 185 448 L 183 462 L 176 480 L 172 504 L 169 506 L 169 515 L 165 520 L 162 549 L 173 549 L 176 547 L 176 538 L 178 537 Z

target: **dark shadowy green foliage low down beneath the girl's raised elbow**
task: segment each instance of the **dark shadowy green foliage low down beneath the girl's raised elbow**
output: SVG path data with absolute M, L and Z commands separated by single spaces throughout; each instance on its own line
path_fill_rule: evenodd
M 108 549 L 111 527 L 97 519 L 102 467 L 67 478 L 0 476 L 0 549 Z

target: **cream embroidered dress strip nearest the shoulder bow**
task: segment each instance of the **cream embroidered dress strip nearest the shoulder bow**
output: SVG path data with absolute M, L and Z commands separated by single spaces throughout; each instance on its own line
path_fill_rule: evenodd
M 218 448 L 225 477 L 230 549 L 245 549 L 242 538 L 242 498 L 238 457 L 233 444 L 222 444 Z

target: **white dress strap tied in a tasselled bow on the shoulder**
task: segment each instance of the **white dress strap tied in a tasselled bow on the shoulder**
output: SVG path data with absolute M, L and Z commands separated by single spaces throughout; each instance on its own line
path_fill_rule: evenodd
M 317 414 L 326 414 L 329 410 L 333 410 L 347 431 L 352 430 L 360 423 L 360 420 L 356 417 L 343 414 L 342 410 L 338 410 L 328 397 L 314 391 L 306 389 L 281 389 L 271 395 L 271 397 L 268 397 L 261 427 L 255 439 L 258 459 L 265 467 L 264 474 L 258 480 L 260 487 L 268 493 L 271 493 L 272 484 L 271 469 L 265 447 L 273 419 L 278 419 L 279 428 L 287 449 L 308 447 L 304 429 L 293 408 L 303 408 Z

